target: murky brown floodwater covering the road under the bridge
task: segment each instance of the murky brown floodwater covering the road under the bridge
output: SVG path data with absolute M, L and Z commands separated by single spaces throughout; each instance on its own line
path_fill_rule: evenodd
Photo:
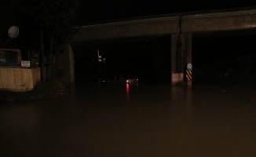
M 254 157 L 255 86 L 75 86 L 0 105 L 1 157 Z

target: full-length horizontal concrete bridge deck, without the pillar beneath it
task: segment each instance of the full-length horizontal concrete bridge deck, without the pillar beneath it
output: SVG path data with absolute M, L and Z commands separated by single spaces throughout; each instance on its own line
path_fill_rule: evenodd
M 101 39 L 112 38 L 212 31 L 240 31 L 254 30 L 255 28 L 256 9 L 188 15 L 183 13 L 179 16 L 170 15 L 82 26 L 73 35 L 70 42 L 97 42 Z

